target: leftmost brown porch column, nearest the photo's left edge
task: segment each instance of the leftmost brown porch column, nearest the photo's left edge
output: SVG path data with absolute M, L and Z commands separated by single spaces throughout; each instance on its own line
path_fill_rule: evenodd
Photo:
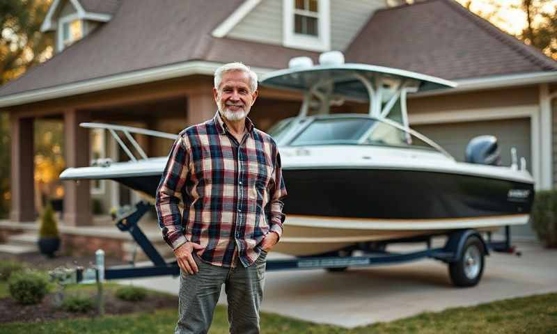
M 35 221 L 33 118 L 12 117 L 12 209 L 10 220 Z

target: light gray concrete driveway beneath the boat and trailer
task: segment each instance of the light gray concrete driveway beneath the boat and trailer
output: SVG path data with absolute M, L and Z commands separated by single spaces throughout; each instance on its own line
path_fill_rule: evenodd
M 347 328 L 425 311 L 557 292 L 557 250 L 515 243 L 522 256 L 493 253 L 472 288 L 451 285 L 445 264 L 422 260 L 343 273 L 324 270 L 267 273 L 262 310 Z M 269 259 L 281 257 L 271 253 Z M 178 293 L 178 278 L 136 279 L 134 285 Z M 226 298 L 221 296 L 221 303 Z

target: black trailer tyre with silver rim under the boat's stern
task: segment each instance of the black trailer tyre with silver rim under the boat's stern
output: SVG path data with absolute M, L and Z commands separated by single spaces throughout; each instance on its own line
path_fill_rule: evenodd
M 473 287 L 480 282 L 485 265 L 485 248 L 475 235 L 466 239 L 462 255 L 448 264 L 450 280 L 457 287 Z

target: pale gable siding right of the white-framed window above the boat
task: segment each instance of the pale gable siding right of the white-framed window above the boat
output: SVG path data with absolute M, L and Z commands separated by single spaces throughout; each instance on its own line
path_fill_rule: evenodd
M 331 49 L 344 51 L 384 0 L 331 1 Z

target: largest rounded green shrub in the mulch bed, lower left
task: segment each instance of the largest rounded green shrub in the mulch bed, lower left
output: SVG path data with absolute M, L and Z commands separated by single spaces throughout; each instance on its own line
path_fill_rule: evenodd
M 48 276 L 40 271 L 16 271 L 8 280 L 8 289 L 12 298 L 19 303 L 40 303 L 49 289 Z

